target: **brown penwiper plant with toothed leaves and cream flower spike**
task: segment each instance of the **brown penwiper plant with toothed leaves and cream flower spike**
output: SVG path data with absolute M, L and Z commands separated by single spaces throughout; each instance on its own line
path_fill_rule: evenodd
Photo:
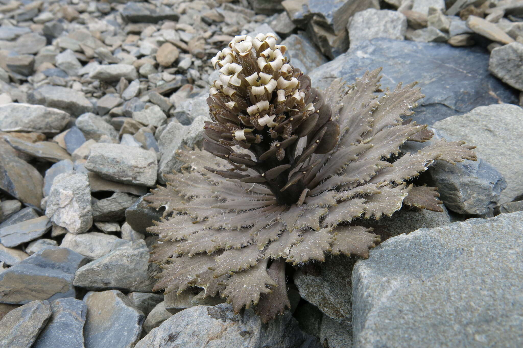
M 202 287 L 236 312 L 257 305 L 267 322 L 290 307 L 286 262 L 367 258 L 379 238 L 359 219 L 403 204 L 442 212 L 436 188 L 406 181 L 437 159 L 475 160 L 464 142 L 401 156 L 406 141 L 433 136 L 402 119 L 424 97 L 415 83 L 378 98 L 377 69 L 320 94 L 285 51 L 272 33 L 236 36 L 212 59 L 220 78 L 207 99 L 207 152 L 179 152 L 186 166 L 146 198 L 165 207 L 148 229 L 160 235 L 150 260 L 162 268 L 155 291 Z

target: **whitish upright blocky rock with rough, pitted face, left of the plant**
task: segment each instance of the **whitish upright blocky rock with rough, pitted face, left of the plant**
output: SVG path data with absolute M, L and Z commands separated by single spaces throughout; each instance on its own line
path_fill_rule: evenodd
M 86 232 L 93 225 L 89 177 L 69 171 L 54 178 L 49 192 L 46 215 L 70 233 Z

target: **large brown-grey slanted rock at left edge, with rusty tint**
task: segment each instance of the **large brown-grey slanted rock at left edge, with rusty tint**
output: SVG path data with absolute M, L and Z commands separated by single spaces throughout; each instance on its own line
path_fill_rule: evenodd
M 11 148 L 5 142 L 0 143 Z M 40 207 L 42 186 L 43 178 L 35 167 L 10 155 L 0 145 L 0 189 L 26 204 Z

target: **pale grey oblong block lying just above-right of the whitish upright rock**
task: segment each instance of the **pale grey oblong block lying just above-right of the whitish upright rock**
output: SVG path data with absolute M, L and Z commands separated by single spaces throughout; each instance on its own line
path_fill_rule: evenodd
M 158 165 L 156 154 L 120 144 L 94 144 L 85 168 L 102 178 L 128 184 L 154 186 Z

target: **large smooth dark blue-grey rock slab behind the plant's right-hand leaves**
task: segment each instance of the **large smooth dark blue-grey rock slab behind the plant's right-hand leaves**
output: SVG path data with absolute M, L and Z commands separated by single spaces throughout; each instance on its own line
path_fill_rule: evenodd
M 517 92 L 488 72 L 488 58 L 480 47 L 379 38 L 351 47 L 314 69 L 310 77 L 313 87 L 324 89 L 335 78 L 352 84 L 367 70 L 383 67 L 382 89 L 418 82 L 425 98 L 418 100 L 412 118 L 430 125 L 478 106 L 518 103 Z

